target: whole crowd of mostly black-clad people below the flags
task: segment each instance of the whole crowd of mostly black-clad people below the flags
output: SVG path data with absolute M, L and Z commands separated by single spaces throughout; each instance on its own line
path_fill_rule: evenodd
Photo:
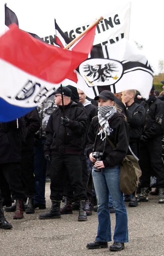
M 108 247 L 112 240 L 110 213 L 115 213 L 110 250 L 124 249 L 128 242 L 125 201 L 137 207 L 152 193 L 164 203 L 163 100 L 164 94 L 154 86 L 148 100 L 136 90 L 115 94 L 102 90 L 93 100 L 68 85 L 27 115 L 0 123 L 0 228 L 12 228 L 4 211 L 22 219 L 24 211 L 34 214 L 37 208 L 46 209 L 49 169 L 52 205 L 39 218 L 61 218 L 79 210 L 78 221 L 87 221 L 97 211 L 97 236 L 86 246 L 96 249 Z M 119 187 L 120 164 L 126 155 L 139 160 L 138 194 L 123 194 Z M 151 176 L 157 180 L 153 192 Z

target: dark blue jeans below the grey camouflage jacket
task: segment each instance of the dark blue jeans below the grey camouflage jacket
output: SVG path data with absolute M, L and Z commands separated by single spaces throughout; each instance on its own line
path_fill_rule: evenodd
M 44 157 L 44 144 L 46 139 L 38 139 L 35 146 L 35 189 L 34 203 L 45 204 L 45 178 L 47 161 Z

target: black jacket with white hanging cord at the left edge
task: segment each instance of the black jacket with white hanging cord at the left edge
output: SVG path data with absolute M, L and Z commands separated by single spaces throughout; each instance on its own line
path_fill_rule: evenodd
M 0 123 L 0 164 L 21 161 L 20 129 L 23 118 L 12 122 Z

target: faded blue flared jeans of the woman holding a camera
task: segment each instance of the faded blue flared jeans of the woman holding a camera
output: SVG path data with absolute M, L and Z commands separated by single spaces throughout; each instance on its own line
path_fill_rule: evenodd
M 101 242 L 111 241 L 111 219 L 109 211 L 109 194 L 113 200 L 116 212 L 116 226 L 114 230 L 114 242 L 128 242 L 127 209 L 124 203 L 123 193 L 119 187 L 119 166 L 102 168 L 101 173 L 92 171 L 94 188 L 98 199 L 98 231 L 96 240 Z

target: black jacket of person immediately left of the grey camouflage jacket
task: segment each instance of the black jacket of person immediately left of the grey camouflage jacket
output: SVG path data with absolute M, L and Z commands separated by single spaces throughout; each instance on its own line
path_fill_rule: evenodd
M 34 135 L 40 129 L 40 117 L 37 109 L 23 116 L 26 124 L 26 141 L 22 142 L 22 151 L 34 150 Z

